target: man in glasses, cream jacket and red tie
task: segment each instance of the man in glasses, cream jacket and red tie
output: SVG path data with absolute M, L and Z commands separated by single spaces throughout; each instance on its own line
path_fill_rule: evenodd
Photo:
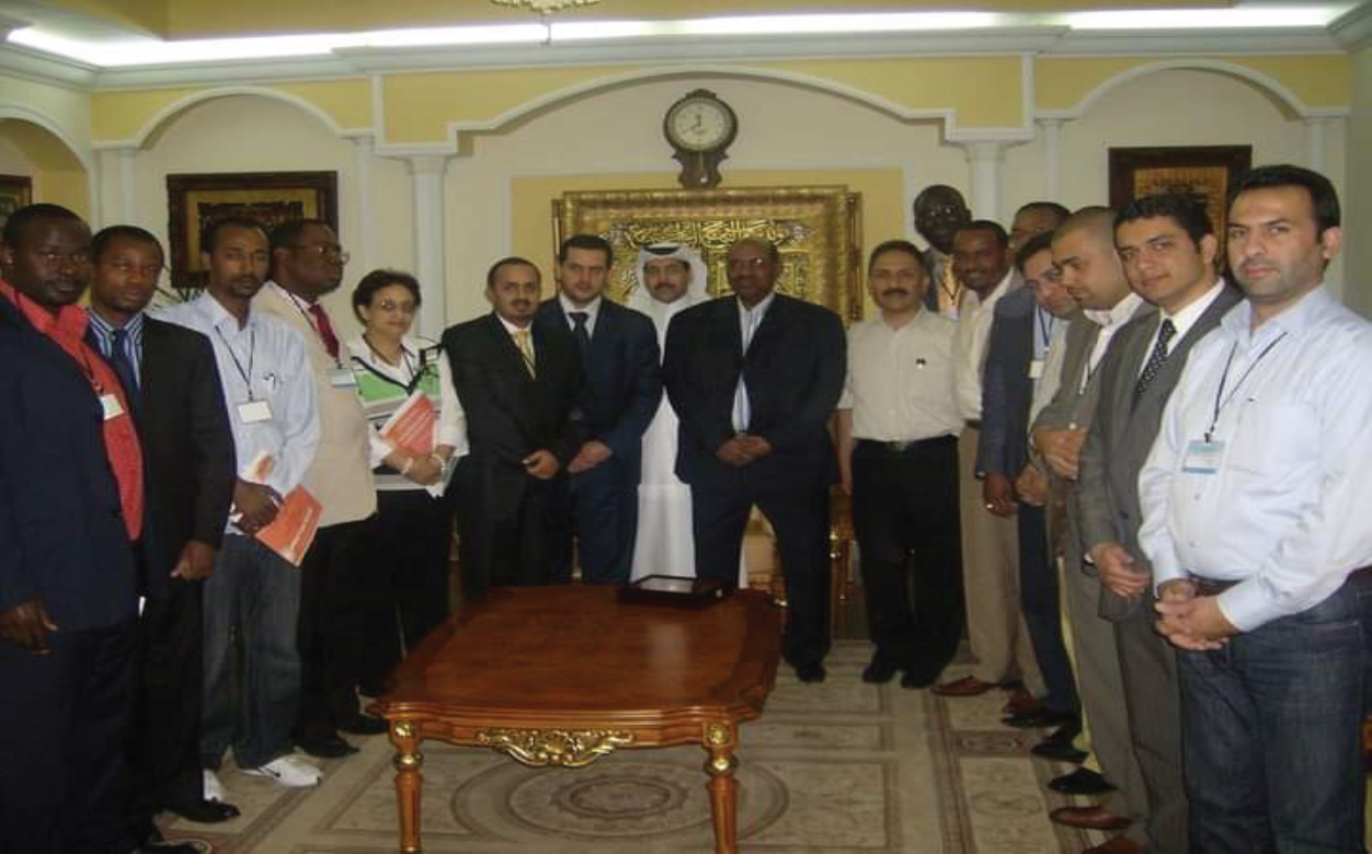
M 376 485 L 368 456 L 366 414 L 353 370 L 340 350 L 321 297 L 343 281 L 348 255 L 320 219 L 283 222 L 272 229 L 272 281 L 254 306 L 300 332 L 320 407 L 320 448 L 305 473 L 305 488 L 322 504 L 318 533 L 300 563 L 300 716 L 295 740 L 305 753 L 338 758 L 357 748 L 339 732 L 376 735 L 384 721 L 358 710 L 357 648 L 370 625 L 364 558 L 368 520 L 376 513 Z

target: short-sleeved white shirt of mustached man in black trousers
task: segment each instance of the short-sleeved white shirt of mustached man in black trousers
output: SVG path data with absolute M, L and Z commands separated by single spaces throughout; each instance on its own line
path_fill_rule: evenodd
M 879 315 L 848 329 L 848 378 L 838 408 L 853 411 L 853 437 L 916 441 L 956 436 L 952 384 L 958 324 L 927 308 L 892 329 Z

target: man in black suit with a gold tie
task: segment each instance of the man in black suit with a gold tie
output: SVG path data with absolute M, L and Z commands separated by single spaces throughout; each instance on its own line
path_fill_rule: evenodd
M 471 452 L 453 476 L 462 592 L 549 584 L 568 530 L 567 466 L 583 437 L 584 377 L 565 329 L 534 324 L 542 280 L 523 258 L 486 274 L 494 311 L 443 333 Z

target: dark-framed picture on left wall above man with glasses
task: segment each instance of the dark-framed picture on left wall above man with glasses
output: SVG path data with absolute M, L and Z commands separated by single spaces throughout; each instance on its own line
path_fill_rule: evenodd
M 336 171 L 257 171 L 167 175 L 172 286 L 203 288 L 200 233 L 225 217 L 247 217 L 269 232 L 289 219 L 324 219 L 339 228 Z

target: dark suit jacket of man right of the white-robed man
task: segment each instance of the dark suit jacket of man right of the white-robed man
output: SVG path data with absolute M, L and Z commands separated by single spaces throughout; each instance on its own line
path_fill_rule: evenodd
M 663 380 L 681 418 L 676 476 L 691 485 L 729 487 L 742 473 L 715 452 L 734 436 L 734 388 L 748 382 L 748 432 L 774 452 L 748 466 L 785 488 L 831 480 L 836 472 L 829 417 L 842 392 L 847 341 L 833 311 L 778 293 L 748 354 L 738 302 L 726 296 L 691 306 L 667 328 Z

